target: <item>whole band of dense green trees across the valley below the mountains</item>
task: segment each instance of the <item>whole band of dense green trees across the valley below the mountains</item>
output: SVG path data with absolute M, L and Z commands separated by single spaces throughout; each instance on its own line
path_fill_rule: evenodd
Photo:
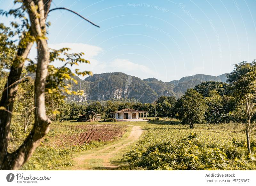
M 76 120 L 79 114 L 85 114 L 88 111 L 102 114 L 102 118 L 110 118 L 110 112 L 133 108 L 148 111 L 149 117 L 179 119 L 182 124 L 189 124 L 190 128 L 193 128 L 195 123 L 243 122 L 246 124 L 247 136 L 249 136 L 249 131 L 254 127 L 256 119 L 254 107 L 256 99 L 253 94 L 255 91 L 255 78 L 252 76 L 251 79 L 247 80 L 249 82 L 244 81 L 244 79 L 248 78 L 246 73 L 244 73 L 245 78 L 239 77 L 244 78 L 241 84 L 237 83 L 237 74 L 243 74 L 239 71 L 242 71 L 245 68 L 244 66 L 247 66 L 246 69 L 250 67 L 251 72 L 256 72 L 254 69 L 255 62 L 242 62 L 228 75 L 229 83 L 219 81 L 201 82 L 194 89 L 188 89 L 185 95 L 181 96 L 178 100 L 173 96 L 161 96 L 153 103 L 145 104 L 135 99 L 93 102 L 70 102 L 63 100 L 56 102 L 49 94 L 46 94 L 46 111 L 52 120 Z M 2 74 L 3 76 L 0 78 L 0 81 L 4 82 L 6 80 L 6 73 L 2 71 Z M 34 107 L 31 104 L 34 97 L 34 80 L 27 76 L 26 70 L 23 71 L 22 76 L 24 80 L 18 84 L 17 91 L 19 102 L 14 104 L 13 109 L 10 136 L 12 142 L 16 141 L 15 138 L 27 136 L 27 130 L 30 131 L 34 123 Z M 241 87 L 239 88 L 239 86 Z M 0 89 L 2 90 L 3 87 L 0 87 Z M 13 144 L 15 146 L 19 145 L 19 143 Z

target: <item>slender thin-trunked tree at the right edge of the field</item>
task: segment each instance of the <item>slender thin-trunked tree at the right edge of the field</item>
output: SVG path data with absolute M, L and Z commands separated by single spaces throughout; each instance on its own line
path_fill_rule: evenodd
M 244 104 L 247 122 L 245 125 L 247 149 L 249 154 L 251 153 L 250 147 L 250 130 L 251 130 L 251 118 L 252 118 L 252 102 L 256 93 L 256 60 L 252 63 L 243 61 L 235 65 L 233 72 L 227 75 L 230 86 L 234 88 L 234 97 Z

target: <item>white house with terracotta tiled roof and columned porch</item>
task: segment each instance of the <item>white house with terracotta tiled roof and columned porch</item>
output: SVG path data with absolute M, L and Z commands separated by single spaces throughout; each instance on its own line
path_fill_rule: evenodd
M 145 120 L 148 119 L 148 111 L 138 111 L 135 109 L 123 109 L 116 112 L 111 112 L 116 120 Z

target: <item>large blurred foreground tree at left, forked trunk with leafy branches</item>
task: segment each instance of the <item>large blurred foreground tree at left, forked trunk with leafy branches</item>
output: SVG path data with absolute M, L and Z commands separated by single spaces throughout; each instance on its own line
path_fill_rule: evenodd
M 74 81 L 72 79 L 74 73 L 72 73 L 66 65 L 72 66 L 78 63 L 89 63 L 89 61 L 81 58 L 83 53 L 68 55 L 68 53 L 66 53 L 67 48 L 50 51 L 46 37 L 46 28 L 50 24 L 46 22 L 46 19 L 48 13 L 51 11 L 50 6 L 52 0 L 17 0 L 15 2 L 21 3 L 20 7 L 7 12 L 0 11 L 2 15 L 13 15 L 15 18 L 21 19 L 20 24 L 17 22 L 11 23 L 14 30 L 8 32 L 10 39 L 7 38 L 8 43 L 13 42 L 11 38 L 14 40 L 17 39 L 17 37 L 19 38 L 19 42 L 16 53 L 13 58 L 11 58 L 8 80 L 4 86 L 0 100 L 0 168 L 2 170 L 19 169 L 32 156 L 41 138 L 48 133 L 49 125 L 52 121 L 46 115 L 45 111 L 45 92 L 51 94 L 52 97 L 57 98 L 59 101 L 65 98 L 64 95 L 61 95 L 63 91 L 68 94 L 77 93 L 72 92 L 70 86 L 64 85 L 65 80 Z M 26 17 L 27 14 L 28 18 Z M 13 115 L 13 105 L 18 89 L 16 85 L 23 80 L 20 79 L 23 66 L 25 61 L 29 60 L 28 53 L 34 42 L 37 46 L 37 63 L 30 60 L 31 64 L 28 70 L 33 71 L 36 69 L 36 71 L 34 71 L 36 74 L 34 87 L 35 123 L 22 145 L 20 145 L 15 152 L 9 153 L 7 147 Z M 66 55 L 66 58 L 60 58 L 60 54 L 62 53 Z M 50 63 L 53 63 L 56 59 L 67 61 L 67 63 L 61 68 L 55 68 L 53 65 L 50 65 Z M 48 76 L 48 72 L 51 72 L 51 76 Z M 90 72 L 79 72 L 76 70 L 76 74 L 85 75 L 90 74 Z

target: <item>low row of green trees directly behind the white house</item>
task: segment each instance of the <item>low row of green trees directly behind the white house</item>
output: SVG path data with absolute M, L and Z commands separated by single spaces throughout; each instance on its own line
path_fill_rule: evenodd
M 104 118 L 110 118 L 110 112 L 122 110 L 125 108 L 133 108 L 136 110 L 148 111 L 149 117 L 162 116 L 171 117 L 172 107 L 175 104 L 175 97 L 161 96 L 154 103 L 145 103 L 136 101 L 135 99 L 93 101 L 91 103 L 84 102 L 63 102 L 58 105 L 59 113 L 53 118 L 55 120 L 76 120 L 79 114 L 85 114 L 88 111 L 94 111 L 102 114 Z

